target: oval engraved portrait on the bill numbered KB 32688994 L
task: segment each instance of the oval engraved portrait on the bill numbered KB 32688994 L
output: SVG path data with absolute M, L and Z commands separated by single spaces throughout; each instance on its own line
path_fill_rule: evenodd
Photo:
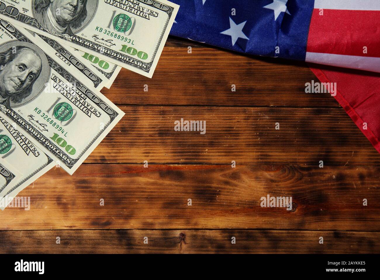
M 40 55 L 27 46 L 0 52 L 0 105 L 10 109 L 30 96 L 41 69 Z

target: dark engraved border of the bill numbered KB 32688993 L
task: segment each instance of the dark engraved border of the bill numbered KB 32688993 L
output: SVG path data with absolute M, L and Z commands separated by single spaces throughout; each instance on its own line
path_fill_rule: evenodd
M 98 0 L 97 0 L 97 1 L 98 1 Z M 161 2 L 159 2 L 159 1 L 153 1 L 153 2 L 155 2 L 155 3 L 161 3 Z M 145 4 L 145 5 L 148 5 L 148 6 L 151 6 L 151 5 L 147 4 L 147 3 L 144 3 L 144 4 Z M 161 3 L 161 4 L 163 4 L 163 3 Z M 166 4 L 163 4 L 163 5 L 166 5 Z M 133 57 L 128 56 L 127 54 L 124 54 L 124 53 L 123 53 L 123 56 L 125 56 L 127 59 L 130 59 L 130 60 L 133 60 L 133 61 L 136 61 L 136 62 L 141 62 L 141 64 L 144 64 L 144 65 L 147 66 L 146 68 L 144 68 L 144 67 L 142 67 L 142 66 L 138 66 L 138 65 L 136 65 L 136 64 L 134 64 L 134 63 L 132 63 L 132 62 L 129 62 L 129 61 L 124 61 L 123 59 L 117 58 L 117 57 L 115 57 L 115 56 L 111 56 L 111 55 L 109 55 L 106 51 L 105 51 L 105 52 L 102 52 L 102 54 L 103 54 L 104 56 L 109 57 L 109 58 L 111 59 L 111 61 L 112 61 L 112 60 L 116 60 L 116 61 L 119 61 L 119 62 L 121 62 L 121 63 L 127 64 L 127 65 L 129 65 L 129 66 L 131 66 L 131 67 L 133 67 L 133 68 L 139 69 L 139 70 L 141 70 L 141 71 L 143 71 L 143 72 L 149 73 L 149 72 L 150 72 L 150 69 L 152 68 L 152 66 L 153 66 L 153 64 L 154 64 L 155 57 L 156 57 L 156 54 L 157 54 L 158 49 L 160 48 L 160 45 L 161 45 L 161 42 L 162 42 L 162 38 L 163 38 L 163 36 L 164 36 L 164 34 L 165 34 L 165 32 L 166 32 L 166 28 L 167 28 L 167 26 L 168 26 L 168 24 L 169 24 L 169 21 L 170 21 L 172 15 L 173 15 L 174 7 L 169 6 L 169 5 L 166 5 L 166 6 L 169 7 L 168 11 L 163 11 L 163 10 L 160 10 L 160 11 L 167 13 L 167 14 L 168 14 L 168 19 L 166 20 L 166 23 L 165 23 L 165 25 L 164 25 L 164 28 L 163 28 L 163 30 L 161 31 L 160 38 L 158 39 L 158 42 L 157 42 L 156 48 L 155 48 L 154 53 L 153 53 L 153 55 L 152 55 L 152 61 L 150 61 L 150 62 L 143 62 L 143 61 L 141 61 L 141 60 L 139 60 L 139 59 L 133 58 Z M 152 8 L 156 8 L 156 7 L 155 7 L 155 6 L 152 6 Z M 156 9 L 157 9 L 157 8 L 156 8 Z M 35 16 L 35 15 L 34 15 L 34 0 L 32 1 L 32 10 L 33 10 L 33 16 Z M 28 25 L 30 25 L 30 26 L 32 26 L 32 27 L 35 27 L 36 29 L 39 29 L 39 30 L 41 30 L 41 31 L 47 32 L 47 33 L 49 33 L 49 34 L 51 34 L 51 35 L 57 36 L 57 37 L 59 37 L 59 38 L 61 38 L 61 39 L 63 39 L 63 40 L 68 41 L 67 38 L 64 37 L 63 35 L 55 34 L 55 33 L 49 32 L 48 30 L 43 29 L 43 28 L 41 27 L 40 23 L 37 21 L 37 19 L 32 18 L 32 17 L 30 17 L 30 16 L 27 16 L 27 15 L 25 15 L 25 14 L 18 13 L 16 16 L 13 16 L 13 15 L 10 15 L 10 14 L 6 13 L 5 11 L 0 11 L 0 14 L 5 15 L 6 17 L 13 18 L 14 20 L 17 20 L 17 21 L 20 21 L 20 22 L 24 22 L 25 24 L 28 24 Z M 90 40 L 87 40 L 87 39 L 85 39 L 85 38 L 82 38 L 82 37 L 79 37 L 79 36 L 76 36 L 76 35 L 75 35 L 75 37 L 78 38 L 78 39 L 80 39 L 80 40 L 82 40 L 83 42 L 87 42 L 87 43 L 90 44 L 90 45 L 96 46 L 96 47 L 98 47 L 98 48 L 102 48 L 102 49 L 107 50 L 107 51 L 109 51 L 109 52 L 111 52 L 111 53 L 114 53 L 114 52 L 115 52 L 114 50 L 111 50 L 110 48 L 106 48 L 105 46 L 101 46 L 101 45 L 99 45 L 99 44 L 97 44 L 97 43 L 95 43 L 95 42 L 91 42 Z M 78 41 L 76 41 L 76 40 L 70 40 L 69 42 L 71 42 L 71 43 L 73 43 L 73 44 L 75 44 L 75 45 L 78 45 L 78 46 L 84 47 L 84 48 L 88 48 L 88 46 L 86 46 L 85 43 L 80 43 L 80 42 L 78 42 Z

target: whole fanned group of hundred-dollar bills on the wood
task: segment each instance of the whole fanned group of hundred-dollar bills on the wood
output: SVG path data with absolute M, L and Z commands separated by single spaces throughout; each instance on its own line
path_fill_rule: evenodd
M 152 77 L 178 9 L 0 1 L 0 209 L 52 167 L 78 169 L 124 115 L 100 90 L 121 67 Z

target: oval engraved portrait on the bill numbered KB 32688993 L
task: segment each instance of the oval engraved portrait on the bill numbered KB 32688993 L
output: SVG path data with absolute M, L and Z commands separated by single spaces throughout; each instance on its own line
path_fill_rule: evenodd
M 41 26 L 55 34 L 73 36 L 87 17 L 87 0 L 35 0 L 34 10 Z

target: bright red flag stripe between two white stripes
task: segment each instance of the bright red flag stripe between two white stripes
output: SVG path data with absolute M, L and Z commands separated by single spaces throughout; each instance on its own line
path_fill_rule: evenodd
M 367 53 L 363 53 L 363 47 Z M 307 39 L 312 53 L 380 57 L 380 11 L 314 9 Z

